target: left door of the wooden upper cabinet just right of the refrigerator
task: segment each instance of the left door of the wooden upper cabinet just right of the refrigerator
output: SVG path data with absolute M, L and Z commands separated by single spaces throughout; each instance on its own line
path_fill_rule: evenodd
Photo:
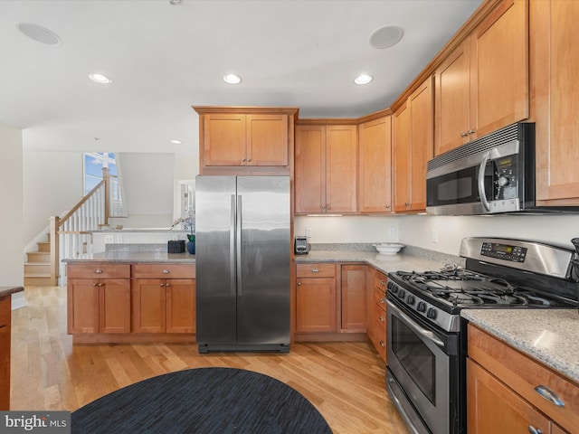
M 296 127 L 296 213 L 324 212 L 326 206 L 326 127 Z

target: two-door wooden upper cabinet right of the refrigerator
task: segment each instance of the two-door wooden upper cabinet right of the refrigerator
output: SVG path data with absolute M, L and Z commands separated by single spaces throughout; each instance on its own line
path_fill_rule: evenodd
M 296 213 L 356 212 L 356 125 L 298 126 Z

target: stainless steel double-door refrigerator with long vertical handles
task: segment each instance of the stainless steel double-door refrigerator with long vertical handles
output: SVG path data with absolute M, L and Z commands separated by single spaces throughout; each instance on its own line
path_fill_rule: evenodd
M 200 353 L 289 352 L 289 212 L 289 176 L 197 176 Z

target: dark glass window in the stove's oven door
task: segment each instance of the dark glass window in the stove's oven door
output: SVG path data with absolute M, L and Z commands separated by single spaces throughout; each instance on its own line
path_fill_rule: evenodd
M 436 399 L 436 355 L 411 328 L 392 317 L 392 351 L 424 396 Z

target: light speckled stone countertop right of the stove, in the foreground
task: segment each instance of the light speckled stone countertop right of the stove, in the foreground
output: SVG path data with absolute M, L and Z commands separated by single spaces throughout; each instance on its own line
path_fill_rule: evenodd
M 577 309 L 462 309 L 460 316 L 579 382 Z

